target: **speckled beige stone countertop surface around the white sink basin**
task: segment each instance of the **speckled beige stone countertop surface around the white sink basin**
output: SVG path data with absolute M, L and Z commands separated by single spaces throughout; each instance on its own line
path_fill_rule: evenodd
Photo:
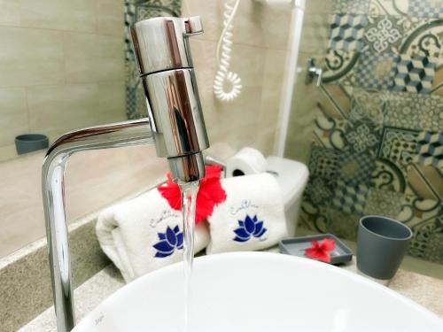
M 277 252 L 276 248 L 269 250 Z M 346 266 L 346 270 L 357 273 L 355 260 Z M 77 320 L 88 314 L 99 305 L 106 297 L 125 285 L 120 272 L 113 265 L 106 266 L 102 271 L 94 275 L 89 281 L 84 282 L 74 290 L 75 312 Z M 422 274 L 399 270 L 389 288 L 397 291 L 404 297 L 409 297 L 416 303 L 423 305 L 431 312 L 443 318 L 443 280 L 434 279 Z M 47 309 L 44 313 L 30 321 L 19 332 L 55 332 L 56 319 L 54 309 Z

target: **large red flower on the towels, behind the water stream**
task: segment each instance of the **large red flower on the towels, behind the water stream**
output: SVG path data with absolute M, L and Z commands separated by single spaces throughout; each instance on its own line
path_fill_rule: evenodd
M 221 167 L 206 166 L 206 175 L 200 181 L 200 189 L 197 194 L 196 224 L 209 217 L 214 206 L 226 200 L 226 192 L 220 182 Z M 178 184 L 174 183 L 171 174 L 167 174 L 167 183 L 159 186 L 159 193 L 167 200 L 174 210 L 182 210 L 182 194 Z

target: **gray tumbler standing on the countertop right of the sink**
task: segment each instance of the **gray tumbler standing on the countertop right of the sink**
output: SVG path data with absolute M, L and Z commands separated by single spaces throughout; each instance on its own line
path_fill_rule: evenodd
M 412 231 L 400 221 L 369 215 L 360 220 L 357 267 L 372 278 L 389 280 L 408 250 Z

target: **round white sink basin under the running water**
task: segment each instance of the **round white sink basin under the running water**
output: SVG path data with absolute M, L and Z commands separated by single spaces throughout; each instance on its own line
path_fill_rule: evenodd
M 183 331 L 182 264 L 131 282 L 74 331 Z M 235 252 L 195 261 L 190 332 L 199 331 L 442 332 L 443 320 L 335 266 Z

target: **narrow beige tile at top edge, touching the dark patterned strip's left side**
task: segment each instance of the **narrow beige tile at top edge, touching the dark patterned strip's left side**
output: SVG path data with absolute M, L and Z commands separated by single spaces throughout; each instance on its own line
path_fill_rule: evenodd
M 124 3 L 120 0 L 97 0 L 97 34 L 124 35 Z

